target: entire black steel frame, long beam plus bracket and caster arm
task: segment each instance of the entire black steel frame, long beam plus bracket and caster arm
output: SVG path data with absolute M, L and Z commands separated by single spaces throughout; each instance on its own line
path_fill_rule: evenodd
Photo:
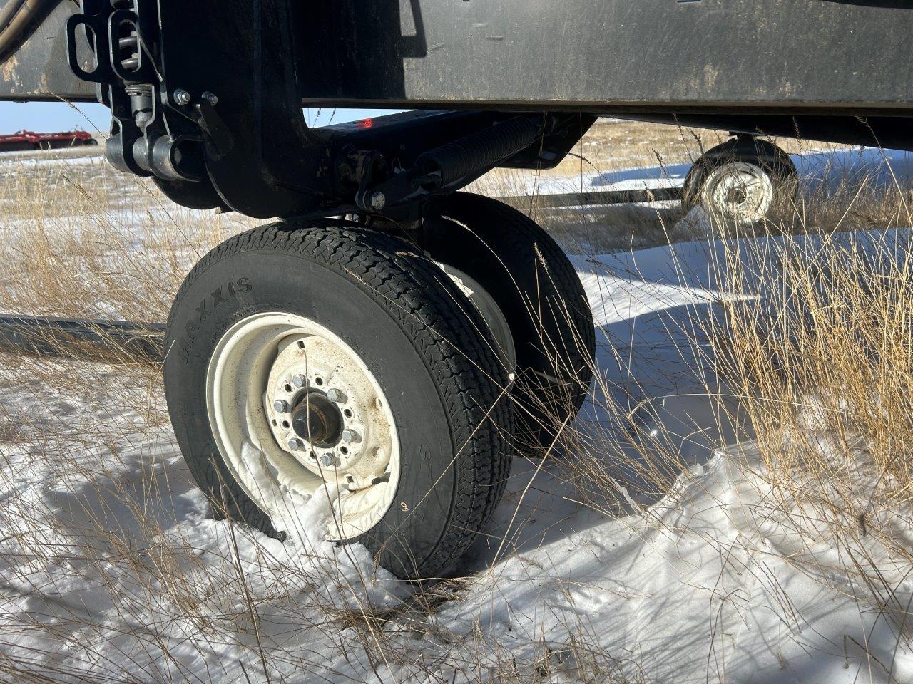
M 195 208 L 414 220 L 495 166 L 556 165 L 601 113 L 913 149 L 899 0 L 58 3 L 18 20 L 37 34 L 0 99 L 94 94 L 110 161 Z M 311 130 L 302 102 L 425 110 Z

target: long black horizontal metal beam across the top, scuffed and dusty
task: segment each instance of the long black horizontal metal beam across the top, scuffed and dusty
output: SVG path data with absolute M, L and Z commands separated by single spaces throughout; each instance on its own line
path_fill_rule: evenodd
M 179 36 L 201 66 L 233 68 L 231 32 L 212 42 L 206 24 L 249 28 L 251 2 L 180 4 L 208 13 Z M 913 3 L 899 0 L 288 5 L 296 54 L 276 58 L 314 105 L 913 115 Z M 60 5 L 3 68 L 0 98 L 94 98 L 52 58 L 72 11 Z

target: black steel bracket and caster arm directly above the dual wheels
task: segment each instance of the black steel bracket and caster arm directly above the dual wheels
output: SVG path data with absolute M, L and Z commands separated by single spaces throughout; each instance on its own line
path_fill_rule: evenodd
M 111 109 L 111 163 L 194 208 L 415 220 L 426 198 L 496 165 L 553 166 L 593 123 L 579 114 L 423 112 L 310 130 L 296 47 L 307 34 L 292 28 L 308 26 L 299 5 L 82 0 L 68 20 L 68 61 Z

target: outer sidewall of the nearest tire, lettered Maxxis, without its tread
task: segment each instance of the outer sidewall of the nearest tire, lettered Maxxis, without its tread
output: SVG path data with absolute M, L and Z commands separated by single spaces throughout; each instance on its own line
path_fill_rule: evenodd
M 371 369 L 390 403 L 400 442 L 393 503 L 358 541 L 397 575 L 414 575 L 446 532 L 456 490 L 453 454 L 460 445 L 425 358 L 403 322 L 366 288 L 288 251 L 249 250 L 215 261 L 175 302 L 164 366 L 166 399 L 188 466 L 210 499 L 226 500 L 225 488 L 215 482 L 227 481 L 228 512 L 272 534 L 268 516 L 234 482 L 216 447 L 205 410 L 206 372 L 219 340 L 248 316 L 276 311 L 320 321 Z

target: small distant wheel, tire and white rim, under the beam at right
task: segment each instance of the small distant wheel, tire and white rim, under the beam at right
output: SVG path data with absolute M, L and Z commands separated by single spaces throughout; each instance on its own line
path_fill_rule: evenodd
M 685 177 L 682 208 L 701 205 L 724 225 L 760 223 L 795 194 L 796 168 L 767 140 L 740 136 L 705 152 Z

